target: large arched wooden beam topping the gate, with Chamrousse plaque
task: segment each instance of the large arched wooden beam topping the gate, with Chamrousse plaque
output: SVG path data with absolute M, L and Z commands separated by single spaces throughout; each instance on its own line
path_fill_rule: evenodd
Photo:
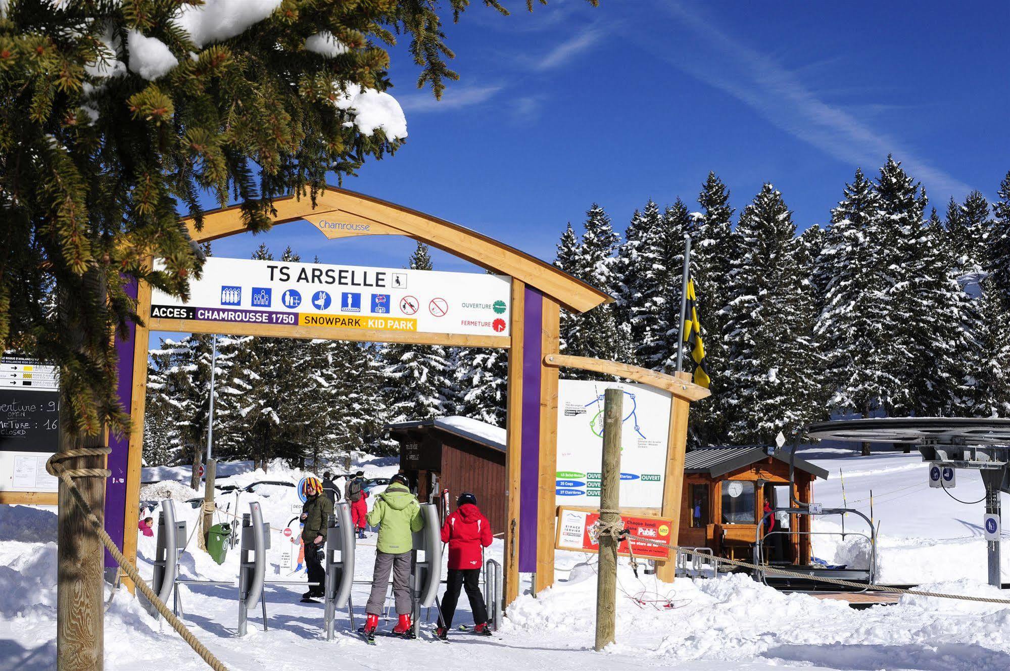
M 406 235 L 481 268 L 509 275 L 539 289 L 573 312 L 585 312 L 613 300 L 582 280 L 513 247 L 403 205 L 337 187 L 326 187 L 313 208 L 308 198 L 287 196 L 274 201 L 275 223 L 305 219 L 327 237 L 346 235 Z M 192 218 L 183 219 L 197 243 L 246 230 L 237 207 L 212 210 L 203 215 L 197 230 Z

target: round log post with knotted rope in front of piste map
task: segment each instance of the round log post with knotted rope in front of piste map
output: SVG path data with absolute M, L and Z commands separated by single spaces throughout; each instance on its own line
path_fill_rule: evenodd
M 621 417 L 624 392 L 607 389 L 603 397 L 603 467 L 600 487 L 600 523 L 618 524 L 621 516 Z M 600 572 L 596 586 L 596 646 L 597 651 L 614 642 L 617 620 L 617 539 L 601 534 Z

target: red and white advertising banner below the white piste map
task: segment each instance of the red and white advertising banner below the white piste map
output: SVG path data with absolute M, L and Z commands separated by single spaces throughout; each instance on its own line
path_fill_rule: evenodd
M 599 512 L 562 506 L 558 510 L 558 538 L 554 547 L 559 550 L 575 552 L 599 552 L 600 545 L 597 542 L 597 522 L 599 519 Z M 676 539 L 671 539 L 670 536 L 671 520 L 666 517 L 622 514 L 621 521 L 624 523 L 624 529 L 628 530 L 632 537 L 676 545 Z M 628 540 L 621 541 L 621 544 L 617 546 L 618 555 L 629 555 L 628 543 Z M 630 543 L 635 557 L 646 559 L 668 559 L 670 557 L 668 548 L 654 546 L 635 538 L 631 538 Z

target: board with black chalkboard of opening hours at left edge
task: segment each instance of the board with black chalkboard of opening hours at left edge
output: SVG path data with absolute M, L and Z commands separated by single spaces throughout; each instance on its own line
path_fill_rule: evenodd
M 0 360 L 0 491 L 50 492 L 45 461 L 60 445 L 57 368 L 30 359 Z

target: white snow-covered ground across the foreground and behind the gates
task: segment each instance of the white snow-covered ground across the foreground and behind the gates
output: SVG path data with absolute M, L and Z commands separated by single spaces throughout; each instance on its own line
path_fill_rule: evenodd
M 850 452 L 822 449 L 805 457 L 831 473 L 828 481 L 818 482 L 814 490 L 816 499 L 826 505 L 841 501 L 839 468 L 844 473 L 846 498 L 853 507 L 869 512 L 869 491 L 874 490 L 875 520 L 881 522 L 882 580 L 924 583 L 940 592 L 1010 596 L 983 584 L 981 504 L 962 505 L 942 491 L 929 489 L 925 466 L 917 455 L 858 458 Z M 390 460 L 364 460 L 361 466 L 369 477 L 389 476 L 396 469 Z M 268 474 L 254 472 L 248 464 L 222 467 L 221 472 L 228 474 L 224 482 L 235 484 L 268 479 L 297 482 L 303 475 L 283 467 L 272 468 Z M 161 469 L 145 472 L 143 479 L 157 476 L 188 481 L 188 475 L 186 469 Z M 177 511 L 193 529 L 199 510 L 182 500 L 196 492 L 177 483 L 166 483 L 161 489 L 147 485 L 145 491 L 176 498 Z M 960 473 L 952 493 L 975 500 L 981 495 L 981 483 Z M 263 494 L 241 494 L 238 509 L 247 510 L 248 502 L 260 501 L 271 524 L 283 528 L 298 503 L 295 490 L 277 487 Z M 225 494 L 220 502 L 230 502 L 234 509 L 233 494 Z M 820 521 L 815 530 L 832 531 L 833 525 Z M 855 531 L 857 521 L 849 518 L 845 525 L 846 531 Z M 55 539 L 53 509 L 0 506 L 0 669 L 53 668 Z M 285 542 L 281 534 L 275 532 L 272 541 L 270 577 L 300 577 L 288 576 L 280 569 Z M 819 537 L 815 554 L 828 561 L 850 560 L 860 555 L 856 541 L 851 536 L 845 542 Z M 371 578 L 374 544 L 374 535 L 360 542 L 356 575 L 361 580 Z M 140 537 L 138 545 L 141 574 L 149 576 L 154 539 Z M 501 542 L 496 541 L 489 556 L 500 559 L 501 552 Z M 188 549 L 181 573 L 187 578 L 234 580 L 237 561 L 232 552 L 218 566 L 205 554 Z M 263 631 L 259 612 L 252 613 L 248 634 L 241 639 L 235 636 L 235 587 L 186 586 L 182 602 L 192 631 L 232 669 L 1010 668 L 1010 641 L 1005 636 L 1010 630 L 1007 604 L 904 597 L 897 605 L 853 610 L 839 602 L 783 594 L 742 575 L 678 580 L 673 586 L 664 586 L 651 577 L 635 578 L 624 565 L 619 573 L 617 643 L 597 654 L 592 651 L 594 561 L 585 555 L 559 553 L 557 585 L 535 598 L 521 596 L 495 638 L 453 634 L 449 645 L 431 642 L 425 633 L 422 641 L 381 638 L 373 648 L 348 632 L 346 613 L 339 615 L 335 640 L 326 642 L 322 606 L 300 603 L 304 588 L 297 585 L 269 585 L 269 631 Z M 366 594 L 367 585 L 356 587 L 359 625 Z M 636 603 L 632 595 L 646 603 Z M 667 602 L 674 607 L 663 607 Z M 470 621 L 466 598 L 461 599 L 456 621 Z M 381 627 L 388 629 L 392 622 Z M 107 669 L 206 668 L 171 628 L 153 619 L 125 590 L 113 596 L 106 613 L 105 655 Z

